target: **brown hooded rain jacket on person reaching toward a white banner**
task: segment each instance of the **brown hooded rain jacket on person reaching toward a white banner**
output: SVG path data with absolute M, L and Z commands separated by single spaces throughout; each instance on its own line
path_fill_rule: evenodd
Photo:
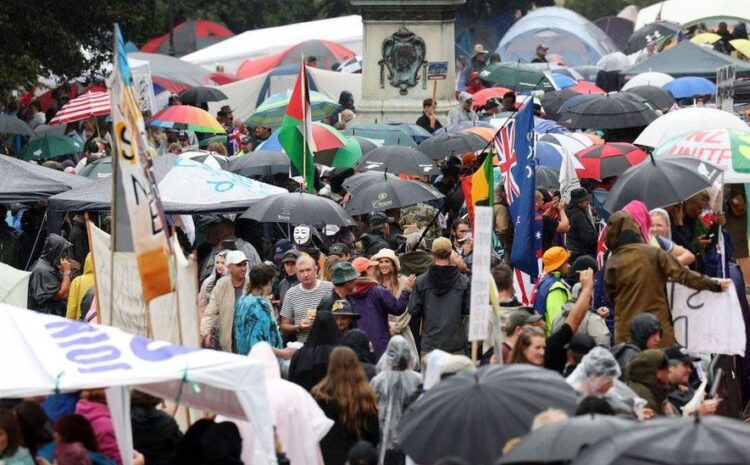
M 615 212 L 607 222 L 607 260 L 604 288 L 615 307 L 615 343 L 630 340 L 630 322 L 641 313 L 651 313 L 664 328 L 662 346 L 674 344 L 666 284 L 674 282 L 697 290 L 721 291 L 721 285 L 680 264 L 663 250 L 644 244 L 633 218 Z

